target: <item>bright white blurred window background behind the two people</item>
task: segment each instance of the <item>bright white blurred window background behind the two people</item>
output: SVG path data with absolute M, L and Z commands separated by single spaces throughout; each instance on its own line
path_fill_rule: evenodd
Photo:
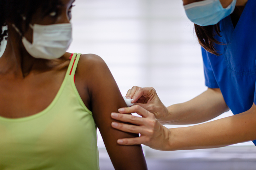
M 182 0 L 76 0 L 68 52 L 102 57 L 122 95 L 132 86 L 154 87 L 165 106 L 190 100 L 207 88 L 201 48 L 182 4 Z M 5 43 L 0 56 L 4 48 Z M 231 115 L 229 111 L 216 119 Z M 98 147 L 100 169 L 114 169 L 99 132 Z M 143 150 L 150 170 L 256 169 L 252 142 L 195 151 L 163 152 L 146 146 Z

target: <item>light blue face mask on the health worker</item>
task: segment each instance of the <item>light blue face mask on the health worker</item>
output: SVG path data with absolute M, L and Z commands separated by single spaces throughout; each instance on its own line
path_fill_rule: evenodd
M 237 0 L 233 0 L 227 8 L 223 8 L 220 0 L 204 0 L 185 5 L 184 8 L 188 19 L 193 23 L 207 26 L 215 25 L 230 15 L 235 9 L 236 2 Z

